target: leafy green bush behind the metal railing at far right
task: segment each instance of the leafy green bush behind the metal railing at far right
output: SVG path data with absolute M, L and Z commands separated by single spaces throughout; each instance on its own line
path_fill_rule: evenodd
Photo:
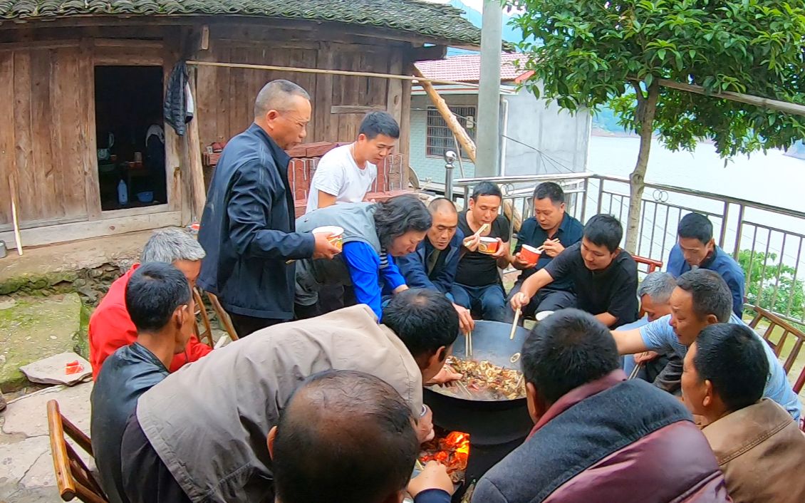
M 789 314 L 797 320 L 803 319 L 805 282 L 801 278 L 796 278 L 794 267 L 781 264 L 778 254 L 762 252 L 752 254 L 752 250 L 749 249 L 742 249 L 738 253 L 738 263 L 747 278 L 748 303 L 782 315 Z

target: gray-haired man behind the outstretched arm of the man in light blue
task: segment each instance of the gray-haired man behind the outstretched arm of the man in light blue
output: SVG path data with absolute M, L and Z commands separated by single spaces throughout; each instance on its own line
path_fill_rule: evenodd
M 674 277 L 665 272 L 654 272 L 646 275 L 638 287 L 640 311 L 642 318 L 634 323 L 624 325 L 618 330 L 631 330 L 658 320 L 664 315 L 671 314 L 671 293 L 676 287 Z M 635 367 L 640 366 L 639 369 Z M 623 369 L 629 375 L 644 381 L 654 383 L 655 386 L 670 393 L 678 393 L 680 378 L 682 377 L 682 359 L 675 353 L 660 355 L 654 351 L 646 351 L 636 355 L 623 357 Z

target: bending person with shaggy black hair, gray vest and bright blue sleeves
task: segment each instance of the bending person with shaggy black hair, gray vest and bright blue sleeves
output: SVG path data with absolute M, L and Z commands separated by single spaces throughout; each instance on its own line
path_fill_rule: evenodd
M 295 311 L 299 319 L 324 314 L 318 305 L 323 286 L 352 287 L 359 304 L 382 317 L 385 285 L 397 294 L 408 289 L 394 257 L 415 251 L 431 229 L 431 214 L 416 196 L 382 203 L 335 204 L 304 214 L 296 229 L 311 232 L 323 225 L 344 229 L 343 251 L 332 261 L 304 259 L 296 267 Z

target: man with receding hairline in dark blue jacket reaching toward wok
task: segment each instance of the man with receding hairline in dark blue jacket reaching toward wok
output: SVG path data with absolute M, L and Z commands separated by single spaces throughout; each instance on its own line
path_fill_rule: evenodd
M 450 291 L 456 279 L 464 233 L 458 228 L 458 212 L 451 200 L 437 198 L 427 209 L 433 218 L 431 229 L 413 254 L 397 259 L 397 266 L 409 288 L 440 291 L 453 302 Z M 474 322 L 469 309 L 456 303 L 453 307 L 458 311 L 461 330 L 472 330 Z

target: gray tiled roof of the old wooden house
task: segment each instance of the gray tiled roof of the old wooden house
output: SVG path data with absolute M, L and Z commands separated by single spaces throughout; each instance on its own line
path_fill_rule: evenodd
M 451 45 L 481 44 L 481 30 L 463 19 L 461 10 L 424 0 L 0 0 L 0 21 L 189 14 L 332 21 L 407 31 Z

